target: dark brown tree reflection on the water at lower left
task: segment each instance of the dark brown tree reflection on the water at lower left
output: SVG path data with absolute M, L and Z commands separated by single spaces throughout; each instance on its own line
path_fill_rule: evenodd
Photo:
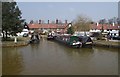
M 3 75 L 17 75 L 23 70 L 23 58 L 17 48 L 3 48 L 2 68 Z

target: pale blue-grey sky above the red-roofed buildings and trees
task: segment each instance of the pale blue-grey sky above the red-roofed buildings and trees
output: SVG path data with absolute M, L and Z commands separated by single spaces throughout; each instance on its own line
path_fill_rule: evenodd
M 77 15 L 86 15 L 93 21 L 118 16 L 117 2 L 18 2 L 22 17 L 30 20 L 74 20 Z

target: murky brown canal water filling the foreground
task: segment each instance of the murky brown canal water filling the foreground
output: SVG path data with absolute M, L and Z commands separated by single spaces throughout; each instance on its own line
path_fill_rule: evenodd
M 2 49 L 3 75 L 117 75 L 115 48 L 70 48 L 42 39 L 39 44 Z

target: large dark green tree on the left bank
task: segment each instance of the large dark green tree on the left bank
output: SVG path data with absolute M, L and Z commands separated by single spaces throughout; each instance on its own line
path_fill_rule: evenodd
M 22 13 L 16 2 L 3 2 L 2 7 L 4 7 L 2 9 L 2 32 L 5 33 L 6 38 L 8 32 L 15 36 L 18 31 L 22 30 L 22 23 L 24 22 L 21 19 Z

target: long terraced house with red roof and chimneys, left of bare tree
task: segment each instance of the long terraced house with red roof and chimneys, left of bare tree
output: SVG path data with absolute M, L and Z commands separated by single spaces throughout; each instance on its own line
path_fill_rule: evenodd
M 39 23 L 28 24 L 28 27 L 30 31 L 39 30 L 43 32 L 65 32 L 68 24 L 69 23 L 67 23 L 67 21 L 65 21 L 65 23 L 58 23 L 58 20 L 56 20 L 56 23 L 49 23 L 48 20 L 48 23 L 41 23 L 41 21 L 39 21 Z

